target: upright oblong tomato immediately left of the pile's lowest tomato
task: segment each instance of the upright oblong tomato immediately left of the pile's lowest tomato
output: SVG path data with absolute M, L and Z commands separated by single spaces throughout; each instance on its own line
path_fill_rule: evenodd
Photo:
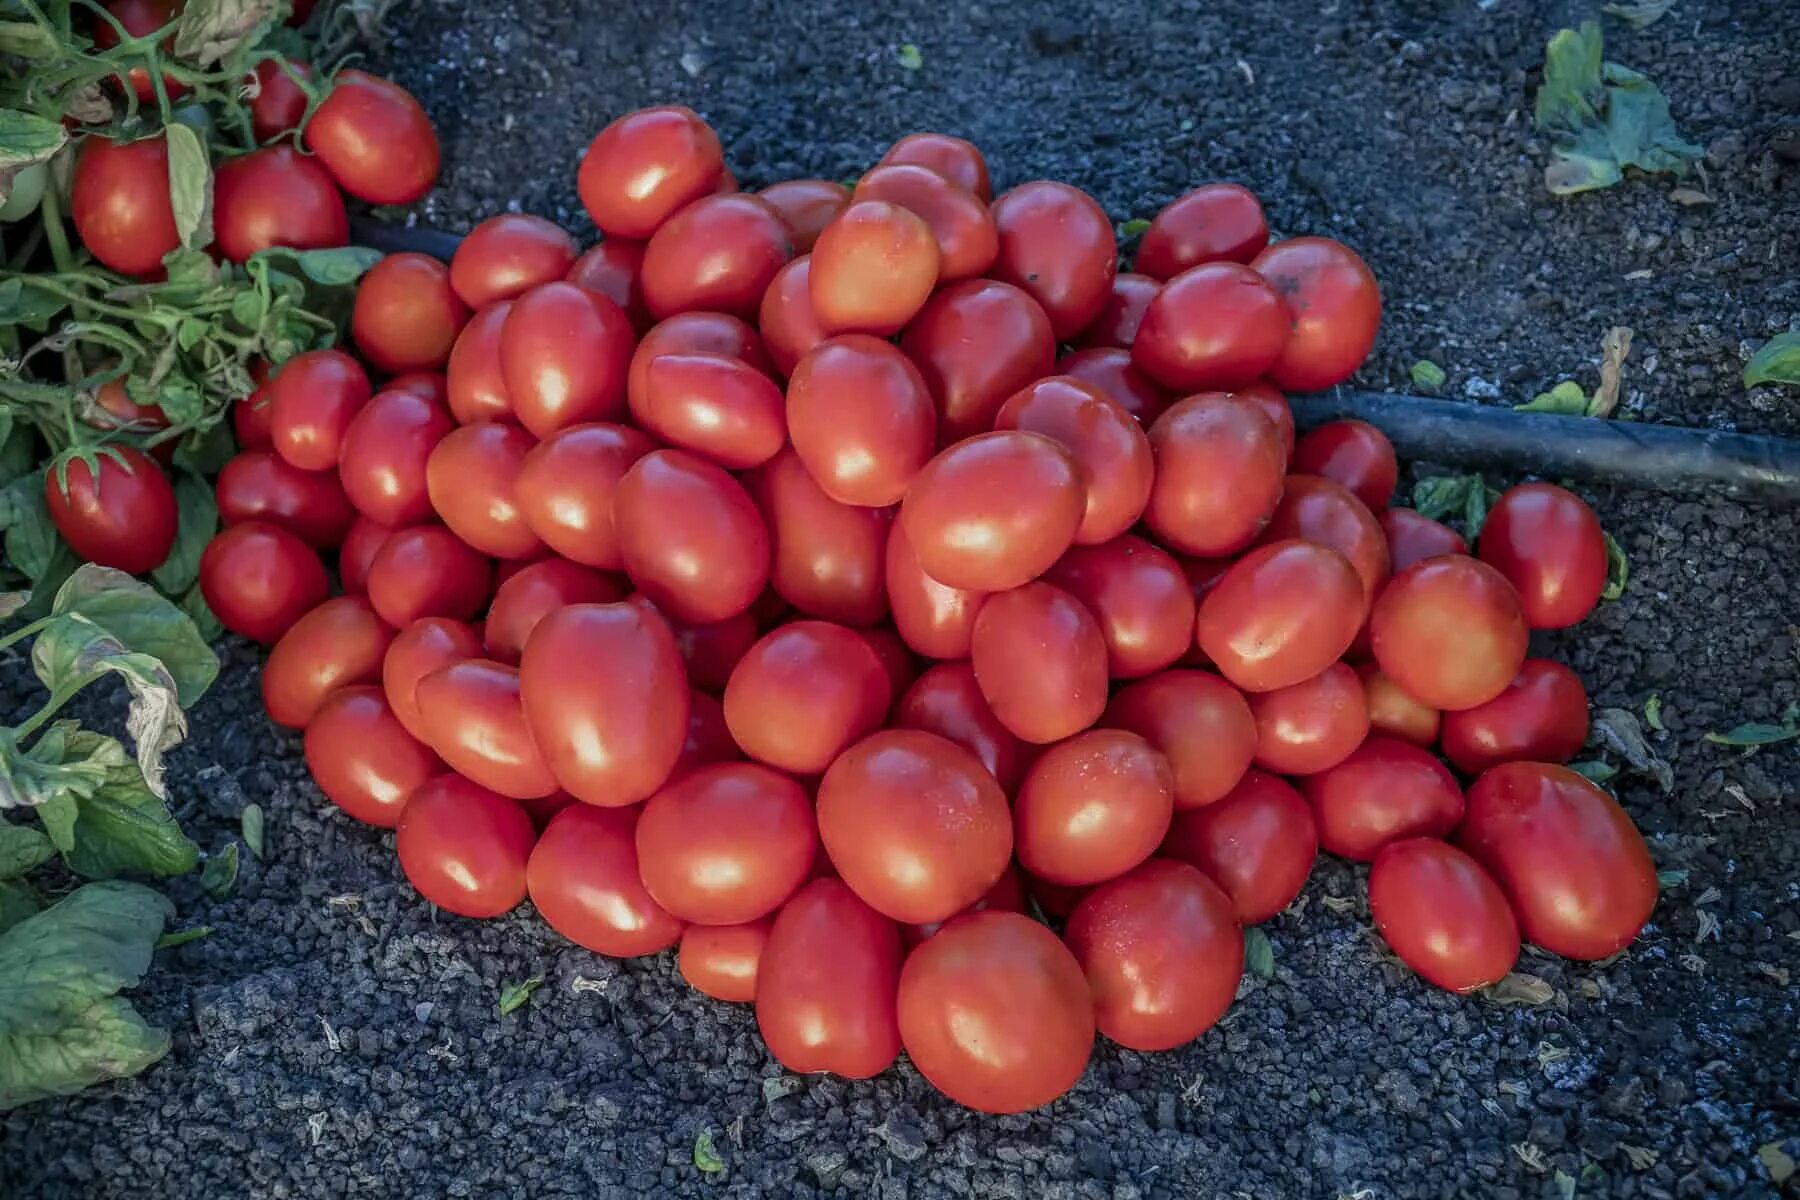
M 781 907 L 756 968 L 756 1027 L 785 1069 L 868 1079 L 900 1054 L 900 932 L 839 880 Z

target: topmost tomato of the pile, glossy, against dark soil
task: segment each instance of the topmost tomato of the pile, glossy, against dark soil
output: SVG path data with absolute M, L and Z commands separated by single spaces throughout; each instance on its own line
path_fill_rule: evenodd
M 724 169 L 718 135 L 691 108 L 639 108 L 594 135 L 576 189 L 608 237 L 648 237 Z

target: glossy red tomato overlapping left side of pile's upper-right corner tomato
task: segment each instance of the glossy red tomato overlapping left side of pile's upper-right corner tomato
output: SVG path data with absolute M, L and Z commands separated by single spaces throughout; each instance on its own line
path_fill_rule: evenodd
M 1287 329 L 1287 308 L 1262 275 L 1240 263 L 1204 263 L 1150 299 L 1130 360 L 1174 390 L 1235 389 L 1276 363 Z

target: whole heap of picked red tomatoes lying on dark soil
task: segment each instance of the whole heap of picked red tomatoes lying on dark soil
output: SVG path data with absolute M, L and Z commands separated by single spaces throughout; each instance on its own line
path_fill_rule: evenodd
M 679 946 L 787 1069 L 905 1049 L 988 1112 L 1206 1031 L 1321 847 L 1456 991 L 1636 936 L 1645 844 L 1526 658 L 1600 596 L 1593 513 L 1514 488 L 1471 554 L 1377 430 L 1294 441 L 1375 338 L 1352 250 L 1215 184 L 1118 273 L 968 142 L 751 194 L 684 108 L 580 191 L 585 254 L 508 214 L 380 263 L 385 381 L 288 362 L 218 480 L 205 597 L 425 898 Z

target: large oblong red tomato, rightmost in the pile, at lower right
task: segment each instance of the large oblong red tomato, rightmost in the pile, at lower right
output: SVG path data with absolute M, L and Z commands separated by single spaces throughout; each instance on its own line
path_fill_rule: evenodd
M 1456 842 L 1507 892 L 1525 937 L 1564 959 L 1624 950 L 1656 909 L 1643 835 L 1618 801 L 1566 766 L 1490 766 L 1469 790 Z

